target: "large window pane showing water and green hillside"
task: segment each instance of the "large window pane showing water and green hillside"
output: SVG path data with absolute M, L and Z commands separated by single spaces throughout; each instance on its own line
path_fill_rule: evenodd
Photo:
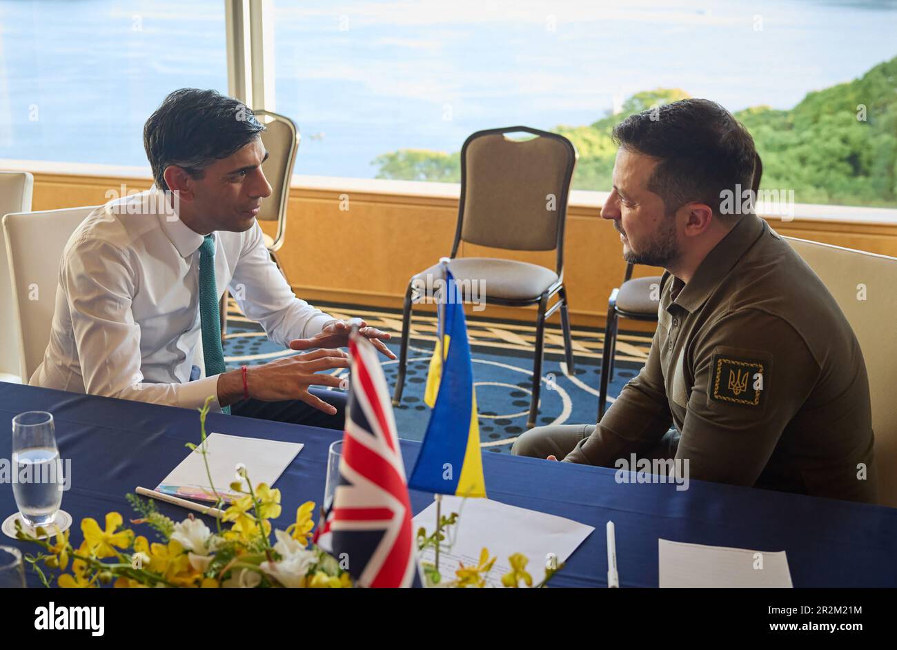
M 457 181 L 468 134 L 522 124 L 567 134 L 574 187 L 607 190 L 610 127 L 692 96 L 744 121 L 764 186 L 897 206 L 893 3 L 275 0 L 274 17 L 300 174 Z

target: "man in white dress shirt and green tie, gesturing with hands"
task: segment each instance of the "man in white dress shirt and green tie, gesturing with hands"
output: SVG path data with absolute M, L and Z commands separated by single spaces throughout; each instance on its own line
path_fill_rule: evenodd
M 215 91 L 162 102 L 144 126 L 155 186 L 103 205 L 69 239 L 31 385 L 187 408 L 213 395 L 216 410 L 343 428 L 344 394 L 311 386 L 340 385 L 321 373 L 348 368 L 337 348 L 350 327 L 297 299 L 268 255 L 256 221 L 271 195 L 264 130 Z M 225 287 L 269 339 L 317 350 L 224 371 L 215 306 Z M 363 322 L 361 333 L 396 358 L 389 334 Z

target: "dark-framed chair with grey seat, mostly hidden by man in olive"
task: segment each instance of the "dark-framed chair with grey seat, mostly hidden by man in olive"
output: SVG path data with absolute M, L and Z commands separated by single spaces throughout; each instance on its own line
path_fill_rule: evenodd
M 753 162 L 753 195 L 760 189 L 763 176 L 763 162 L 760 154 L 755 154 Z M 649 275 L 633 278 L 633 264 L 626 264 L 623 283 L 611 291 L 607 299 L 607 318 L 605 320 L 605 344 L 601 351 L 601 376 L 598 379 L 598 419 L 607 410 L 607 385 L 614 380 L 614 357 L 616 356 L 617 330 L 619 318 L 630 320 L 658 321 L 658 304 L 660 299 L 660 275 Z

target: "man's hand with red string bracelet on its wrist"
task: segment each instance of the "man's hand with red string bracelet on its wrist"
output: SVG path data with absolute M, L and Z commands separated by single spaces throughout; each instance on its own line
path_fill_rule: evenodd
M 336 409 L 309 393 L 309 386 L 340 386 L 334 375 L 318 374 L 322 370 L 349 368 L 349 355 L 342 350 L 316 350 L 251 366 L 246 371 L 249 397 L 263 402 L 301 400 L 318 411 L 334 415 Z M 218 377 L 218 403 L 227 406 L 243 397 L 242 370 L 231 370 Z

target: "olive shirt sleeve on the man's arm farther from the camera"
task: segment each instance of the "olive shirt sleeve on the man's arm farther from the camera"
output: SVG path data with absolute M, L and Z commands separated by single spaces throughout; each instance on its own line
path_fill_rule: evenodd
M 580 440 L 564 461 L 610 466 L 617 458 L 638 454 L 664 437 L 673 416 L 666 401 L 660 368 L 659 338 L 658 327 L 644 368 L 623 386 L 620 396 L 597 423 L 592 435 Z

